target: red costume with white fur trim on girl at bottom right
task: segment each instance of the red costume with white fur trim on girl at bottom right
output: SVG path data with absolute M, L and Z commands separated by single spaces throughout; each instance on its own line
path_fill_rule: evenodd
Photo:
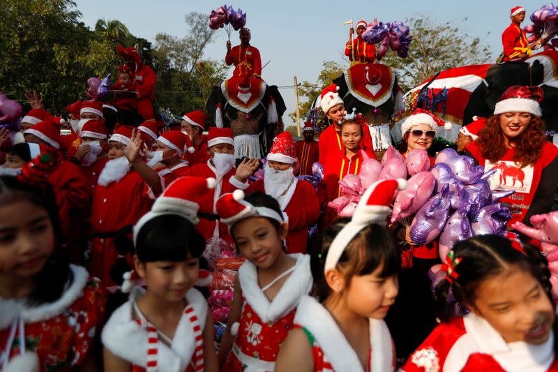
M 558 371 L 553 346 L 552 337 L 542 345 L 506 343 L 486 320 L 469 313 L 438 325 L 402 371 Z

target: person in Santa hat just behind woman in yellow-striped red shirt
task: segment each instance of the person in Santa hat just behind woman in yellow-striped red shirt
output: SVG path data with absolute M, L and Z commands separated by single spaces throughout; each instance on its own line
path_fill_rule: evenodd
M 330 154 L 343 154 L 344 148 L 341 140 L 341 123 L 345 120 L 345 105 L 343 100 L 338 94 L 339 87 L 331 84 L 329 87 L 322 91 L 320 96 L 319 105 L 322 107 L 326 117 L 331 120 L 331 125 L 328 126 L 320 135 L 318 139 L 319 144 L 319 163 L 324 165 L 326 159 Z M 365 124 L 362 128 L 362 141 L 360 144 L 361 149 L 369 151 L 374 154 L 372 147 L 372 137 L 370 137 L 370 129 Z

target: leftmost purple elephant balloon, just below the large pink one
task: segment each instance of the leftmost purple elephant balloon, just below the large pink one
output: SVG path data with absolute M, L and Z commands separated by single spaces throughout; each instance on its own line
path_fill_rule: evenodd
M 411 239 L 416 244 L 428 244 L 440 235 L 449 214 L 449 186 L 432 196 L 418 209 L 411 224 Z

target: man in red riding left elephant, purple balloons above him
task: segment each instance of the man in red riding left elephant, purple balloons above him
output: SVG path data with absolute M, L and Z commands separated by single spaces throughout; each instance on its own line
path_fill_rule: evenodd
M 240 30 L 240 45 L 231 48 L 230 40 L 227 41 L 227 54 L 225 55 L 227 66 L 234 64 L 233 76 L 262 77 L 262 58 L 259 50 L 250 45 L 250 30 Z

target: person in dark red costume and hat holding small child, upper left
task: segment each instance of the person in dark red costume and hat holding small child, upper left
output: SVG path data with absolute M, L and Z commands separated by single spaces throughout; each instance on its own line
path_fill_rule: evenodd
M 155 84 L 157 82 L 155 71 L 142 64 L 140 54 L 135 47 L 123 48 L 122 45 L 116 45 L 116 51 L 130 67 L 130 70 L 135 73 L 138 114 L 142 115 L 144 120 L 154 120 L 153 100 L 155 99 Z M 121 84 L 120 80 L 116 84 Z

